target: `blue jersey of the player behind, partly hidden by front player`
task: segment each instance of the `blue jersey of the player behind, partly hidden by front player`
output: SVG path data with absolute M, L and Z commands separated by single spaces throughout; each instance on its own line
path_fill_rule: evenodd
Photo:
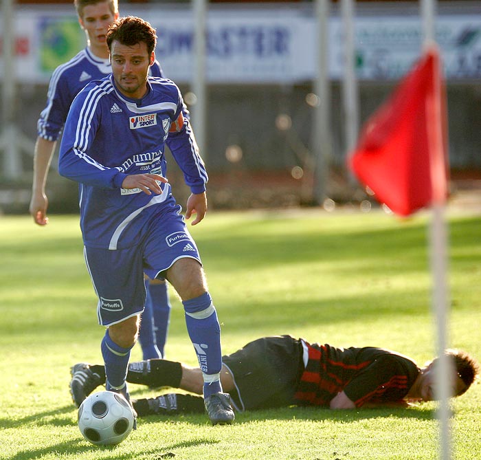
M 57 140 L 67 120 L 71 103 L 80 89 L 91 80 L 99 80 L 111 72 L 109 59 L 94 56 L 88 47 L 67 63 L 59 65 L 50 78 L 47 107 L 37 122 L 38 136 L 50 141 Z M 157 61 L 150 67 L 150 74 L 164 76 Z

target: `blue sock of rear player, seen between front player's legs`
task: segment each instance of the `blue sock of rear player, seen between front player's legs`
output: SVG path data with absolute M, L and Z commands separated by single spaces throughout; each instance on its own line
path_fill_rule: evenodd
M 147 287 L 148 298 L 152 305 L 154 318 L 155 344 L 159 349 L 161 358 L 166 358 L 165 347 L 167 332 L 170 322 L 170 302 L 168 298 L 167 283 L 149 283 Z

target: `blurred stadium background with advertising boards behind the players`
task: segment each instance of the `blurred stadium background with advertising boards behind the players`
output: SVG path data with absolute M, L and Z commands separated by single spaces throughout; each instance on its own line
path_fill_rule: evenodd
M 14 100 L 3 89 L 0 210 L 27 213 L 36 121 L 49 77 L 85 46 L 72 0 L 12 2 Z M 120 0 L 121 15 L 150 21 L 157 59 L 181 87 L 196 123 L 194 1 Z M 345 168 L 349 148 L 344 80 L 344 0 L 328 1 L 328 146 L 316 144 L 318 35 L 316 0 L 206 1 L 205 140 L 208 197 L 214 209 L 353 204 L 369 199 Z M 390 94 L 421 54 L 420 1 L 353 1 L 355 127 Z M 436 2 L 436 40 L 447 76 L 449 161 L 456 190 L 481 183 L 481 1 Z M 2 47 L 2 50 L 5 48 Z M 0 76 L 5 88 L 5 60 Z M 12 70 L 12 69 L 10 69 Z M 352 101 L 350 101 L 352 102 Z M 12 157 L 6 130 L 15 127 Z M 325 144 L 324 144 L 325 146 Z M 317 157 L 323 159 L 319 170 Z M 56 158 L 52 162 L 55 168 Z M 180 203 L 188 191 L 170 161 Z M 321 184 L 321 193 L 319 186 Z M 481 186 L 480 186 L 481 187 Z M 47 182 L 49 213 L 76 212 L 77 186 L 55 171 Z M 327 201 L 325 201 L 327 199 Z M 332 201 L 331 201 L 332 200 Z

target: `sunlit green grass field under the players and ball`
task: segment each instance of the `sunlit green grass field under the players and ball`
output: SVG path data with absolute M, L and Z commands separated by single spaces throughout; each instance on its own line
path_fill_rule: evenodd
M 381 212 L 217 213 L 192 229 L 222 323 L 223 351 L 290 333 L 387 347 L 422 365 L 435 353 L 427 224 Z M 481 217 L 449 215 L 449 344 L 481 358 Z M 87 443 L 69 367 L 100 362 L 102 327 L 76 216 L 0 217 L 0 459 L 436 459 L 436 404 L 333 411 L 282 408 L 212 427 L 203 415 L 146 417 L 119 446 Z M 195 364 L 172 292 L 167 355 Z M 138 346 L 133 360 L 141 358 Z M 131 385 L 133 397 L 157 394 Z M 479 459 L 481 386 L 452 404 L 453 458 Z

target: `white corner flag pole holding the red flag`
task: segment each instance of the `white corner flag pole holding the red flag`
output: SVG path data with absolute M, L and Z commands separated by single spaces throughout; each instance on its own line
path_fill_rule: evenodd
M 434 1 L 421 0 L 423 13 L 424 47 L 436 47 L 434 27 Z M 447 349 L 447 229 L 444 218 L 447 196 L 445 171 L 445 140 L 443 138 L 443 119 L 440 98 L 440 59 L 436 59 L 432 97 L 427 106 L 433 113 L 427 112 L 429 155 L 432 182 L 432 222 L 429 234 L 430 262 L 433 276 L 432 309 L 436 320 L 437 353 L 439 366 L 436 369 L 436 399 L 439 401 L 439 454 L 440 459 L 451 459 L 451 427 L 449 423 L 449 397 L 452 391 L 451 363 L 445 355 Z

